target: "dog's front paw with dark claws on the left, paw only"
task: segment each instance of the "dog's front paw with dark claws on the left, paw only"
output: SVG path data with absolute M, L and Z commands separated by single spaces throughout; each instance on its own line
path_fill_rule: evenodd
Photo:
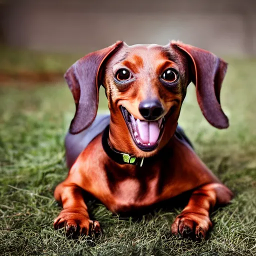
M 55 229 L 64 227 L 67 236 L 75 237 L 80 234 L 98 236 L 102 230 L 97 220 L 88 218 L 87 212 L 62 210 L 54 219 L 53 226 Z

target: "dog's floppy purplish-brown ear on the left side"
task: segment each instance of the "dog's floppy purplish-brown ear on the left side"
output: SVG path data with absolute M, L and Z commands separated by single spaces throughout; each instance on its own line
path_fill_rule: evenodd
M 120 45 L 122 41 L 117 41 L 109 47 L 89 53 L 77 60 L 65 72 L 64 78 L 75 102 L 75 114 L 69 127 L 70 133 L 79 133 L 93 122 L 98 108 L 100 67 L 106 57 L 115 52 Z

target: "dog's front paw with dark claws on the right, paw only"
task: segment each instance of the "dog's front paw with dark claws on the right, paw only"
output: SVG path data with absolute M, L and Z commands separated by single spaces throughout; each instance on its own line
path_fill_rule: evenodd
M 181 213 L 171 225 L 173 234 L 180 233 L 183 238 L 205 239 L 212 223 L 208 216 L 199 213 Z

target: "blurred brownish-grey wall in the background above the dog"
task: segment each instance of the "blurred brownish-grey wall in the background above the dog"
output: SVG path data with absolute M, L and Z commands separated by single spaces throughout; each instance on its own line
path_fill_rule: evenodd
M 0 0 L 9 45 L 84 53 L 116 40 L 171 39 L 222 55 L 256 55 L 256 0 Z

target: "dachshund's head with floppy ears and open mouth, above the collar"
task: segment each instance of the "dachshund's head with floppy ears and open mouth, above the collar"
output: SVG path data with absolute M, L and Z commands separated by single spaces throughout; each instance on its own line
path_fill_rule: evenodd
M 190 81 L 204 117 L 213 126 L 226 128 L 228 119 L 219 101 L 226 67 L 214 54 L 181 42 L 128 46 L 117 41 L 66 71 L 76 104 L 70 132 L 79 133 L 92 123 L 102 84 L 110 109 L 110 143 L 137 157 L 150 156 L 175 132 Z

